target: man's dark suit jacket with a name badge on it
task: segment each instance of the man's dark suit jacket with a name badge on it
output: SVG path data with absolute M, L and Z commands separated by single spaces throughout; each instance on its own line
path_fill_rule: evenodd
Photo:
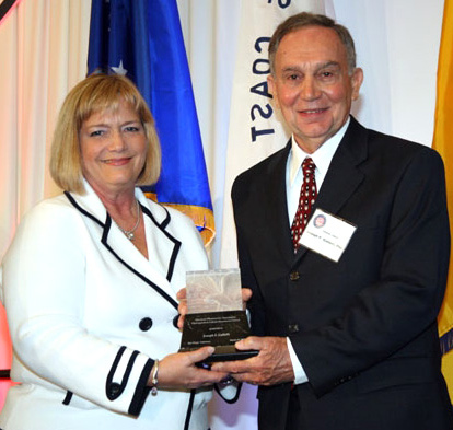
M 298 429 L 446 430 L 437 315 L 450 254 L 442 160 L 352 117 L 316 199 L 357 225 L 338 263 L 294 255 L 290 144 L 232 190 L 242 281 L 256 335 L 289 336 L 309 377 Z M 284 429 L 291 385 L 259 387 L 260 430 Z

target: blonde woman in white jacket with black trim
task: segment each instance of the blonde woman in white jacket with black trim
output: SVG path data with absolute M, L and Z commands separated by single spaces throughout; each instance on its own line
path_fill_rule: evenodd
M 69 93 L 50 172 L 66 191 L 23 219 L 2 263 L 21 384 L 0 428 L 206 430 L 209 386 L 226 375 L 195 365 L 209 347 L 172 352 L 176 293 L 208 262 L 191 221 L 136 187 L 158 179 L 160 147 L 129 80 L 96 74 Z

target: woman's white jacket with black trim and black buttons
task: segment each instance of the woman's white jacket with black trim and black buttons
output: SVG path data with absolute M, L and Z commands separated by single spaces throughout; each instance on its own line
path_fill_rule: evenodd
M 211 391 L 146 382 L 154 359 L 177 351 L 176 292 L 208 268 L 200 236 L 181 212 L 136 190 L 149 259 L 86 185 L 27 214 L 2 262 L 0 299 L 13 342 L 3 430 L 206 430 Z M 187 426 L 190 421 L 189 427 Z

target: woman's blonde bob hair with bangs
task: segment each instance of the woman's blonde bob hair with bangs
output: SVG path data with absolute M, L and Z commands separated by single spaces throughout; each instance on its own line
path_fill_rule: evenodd
M 137 86 L 119 74 L 92 74 L 79 82 L 61 106 L 50 151 L 50 174 L 62 189 L 83 194 L 83 173 L 79 132 L 94 113 L 118 109 L 126 102 L 144 128 L 148 151 L 137 185 L 154 184 L 161 172 L 161 147 L 154 118 Z

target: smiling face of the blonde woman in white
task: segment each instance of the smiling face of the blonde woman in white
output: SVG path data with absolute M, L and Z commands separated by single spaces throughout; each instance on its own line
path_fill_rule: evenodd
M 83 176 L 97 194 L 133 189 L 148 144 L 140 118 L 128 104 L 92 114 L 83 121 L 79 140 Z

